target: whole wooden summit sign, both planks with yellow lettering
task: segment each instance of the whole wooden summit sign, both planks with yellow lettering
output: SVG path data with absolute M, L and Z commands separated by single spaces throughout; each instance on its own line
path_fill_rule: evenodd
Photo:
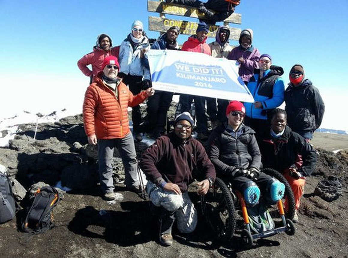
M 165 14 L 187 16 L 193 18 L 204 18 L 204 14 L 200 13 L 197 8 L 176 5 L 173 3 L 165 3 L 163 1 L 148 1 L 148 11 L 160 13 L 160 17 L 149 16 L 149 30 L 150 31 L 159 31 L 160 33 L 165 33 L 172 26 L 177 26 L 180 28 L 180 34 L 193 35 L 196 34 L 196 29 L 198 27 L 197 22 L 181 21 L 168 19 L 165 17 Z M 224 20 L 224 25 L 228 23 L 241 23 L 242 16 L 240 14 L 233 13 Z M 219 28 L 218 25 L 209 26 L 208 37 L 215 38 L 216 31 Z M 242 30 L 239 28 L 230 27 L 230 38 L 231 40 L 238 40 L 239 34 Z

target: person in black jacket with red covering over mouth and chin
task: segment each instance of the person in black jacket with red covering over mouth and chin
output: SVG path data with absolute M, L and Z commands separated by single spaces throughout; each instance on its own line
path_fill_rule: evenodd
M 309 141 L 322 123 L 325 105 L 319 90 L 309 79 L 304 79 L 302 65 L 295 64 L 291 68 L 289 79 L 284 93 L 287 123 Z

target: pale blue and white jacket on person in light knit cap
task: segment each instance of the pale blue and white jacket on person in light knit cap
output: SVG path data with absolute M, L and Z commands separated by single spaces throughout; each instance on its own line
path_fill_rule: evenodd
M 136 44 L 128 34 L 122 42 L 119 54 L 120 73 L 142 76 L 143 80 L 150 80 L 150 70 L 142 65 L 140 58 L 141 49 L 150 49 L 149 39 L 146 36 L 143 37 L 143 40 Z

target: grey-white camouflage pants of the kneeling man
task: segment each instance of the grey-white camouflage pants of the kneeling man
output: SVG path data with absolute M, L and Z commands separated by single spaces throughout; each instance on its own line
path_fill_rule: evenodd
M 182 195 L 163 190 L 151 181 L 146 185 L 151 202 L 157 207 L 163 207 L 174 212 L 177 228 L 181 233 L 191 233 L 197 226 L 197 210 L 190 200 L 188 192 Z M 174 223 L 174 220 L 173 220 Z

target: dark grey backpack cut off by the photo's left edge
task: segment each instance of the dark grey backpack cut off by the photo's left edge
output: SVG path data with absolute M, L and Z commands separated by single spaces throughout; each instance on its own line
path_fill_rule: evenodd
M 0 224 L 14 218 L 16 212 L 15 199 L 8 177 L 0 173 Z

